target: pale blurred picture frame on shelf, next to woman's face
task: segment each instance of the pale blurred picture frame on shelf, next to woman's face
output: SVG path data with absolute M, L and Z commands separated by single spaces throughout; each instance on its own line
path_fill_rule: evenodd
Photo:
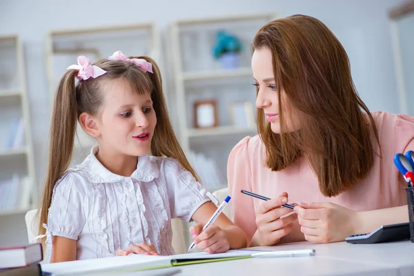
M 254 128 L 255 109 L 251 101 L 239 101 L 230 103 L 230 121 L 232 126 L 239 128 Z

